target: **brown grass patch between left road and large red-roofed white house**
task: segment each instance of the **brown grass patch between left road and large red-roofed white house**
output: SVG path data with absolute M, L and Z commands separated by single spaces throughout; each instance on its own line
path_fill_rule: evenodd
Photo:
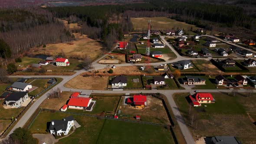
M 66 104 L 66 102 L 69 100 L 70 95 L 72 92 L 62 92 L 60 95 L 60 98 L 51 98 L 45 99 L 40 107 L 42 108 L 48 108 L 48 109 L 54 109 L 56 111 L 59 111 L 59 109 Z

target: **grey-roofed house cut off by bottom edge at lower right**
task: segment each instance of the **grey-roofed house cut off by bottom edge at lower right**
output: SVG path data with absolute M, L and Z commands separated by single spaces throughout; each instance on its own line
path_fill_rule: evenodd
M 211 144 L 241 144 L 234 136 L 215 136 L 211 138 Z

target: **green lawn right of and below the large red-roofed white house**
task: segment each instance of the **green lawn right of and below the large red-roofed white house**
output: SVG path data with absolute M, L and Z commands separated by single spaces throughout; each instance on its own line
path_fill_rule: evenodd
M 102 111 L 113 113 L 118 105 L 119 96 L 92 96 L 92 100 L 96 101 L 96 104 L 92 111 L 82 111 L 77 109 L 68 108 L 67 111 L 75 113 L 86 114 L 100 114 Z

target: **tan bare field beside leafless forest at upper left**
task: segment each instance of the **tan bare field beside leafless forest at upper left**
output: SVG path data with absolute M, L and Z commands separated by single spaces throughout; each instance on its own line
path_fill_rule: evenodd
M 60 53 L 64 53 L 68 57 L 83 58 L 85 54 L 89 55 L 91 59 L 97 59 L 104 52 L 102 51 L 101 43 L 96 40 L 90 39 L 88 36 L 74 33 L 79 40 L 70 43 L 56 43 L 47 44 L 46 48 L 33 48 L 30 52 L 33 54 L 46 54 L 56 56 Z

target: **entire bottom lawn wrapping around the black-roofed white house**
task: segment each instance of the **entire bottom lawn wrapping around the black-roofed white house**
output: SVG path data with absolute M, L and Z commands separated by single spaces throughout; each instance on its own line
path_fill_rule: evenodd
M 42 111 L 30 127 L 32 133 L 47 134 L 46 124 L 52 119 L 62 119 L 70 114 Z M 131 144 L 142 143 L 171 143 L 174 144 L 170 130 L 154 125 L 137 124 L 124 121 L 97 119 L 86 116 L 72 115 L 81 125 L 69 137 L 57 144 Z M 140 131 L 136 133 L 135 131 Z M 127 137 L 132 137 L 127 139 Z

